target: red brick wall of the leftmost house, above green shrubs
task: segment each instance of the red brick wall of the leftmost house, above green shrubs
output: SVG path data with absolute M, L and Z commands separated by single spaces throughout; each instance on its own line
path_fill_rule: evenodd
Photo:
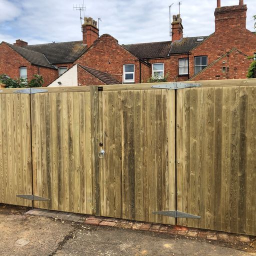
M 11 78 L 19 77 L 19 67 L 26 66 L 28 81 L 33 78 L 34 74 L 42 75 L 44 79 L 43 86 L 57 78 L 57 70 L 42 66 L 32 65 L 25 58 L 20 56 L 16 51 L 11 49 L 7 44 L 0 44 L 0 74 L 6 73 Z M 39 68 L 39 69 L 38 69 Z

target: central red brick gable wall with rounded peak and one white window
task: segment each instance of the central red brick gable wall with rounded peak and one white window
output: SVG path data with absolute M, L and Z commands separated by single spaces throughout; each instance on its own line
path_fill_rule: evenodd
M 134 64 L 134 80 L 139 83 L 138 58 L 121 47 L 109 34 L 101 35 L 75 63 L 109 74 L 123 74 L 123 64 Z

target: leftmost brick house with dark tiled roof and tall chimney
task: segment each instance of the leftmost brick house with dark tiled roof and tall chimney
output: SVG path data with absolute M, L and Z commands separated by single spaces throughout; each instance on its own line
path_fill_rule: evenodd
M 80 41 L 36 45 L 28 45 L 20 39 L 13 44 L 3 41 L 0 43 L 0 74 L 28 80 L 34 74 L 40 74 L 44 78 L 44 86 L 47 86 L 72 67 L 77 57 L 98 37 L 96 22 L 91 18 L 84 18 L 82 37 Z

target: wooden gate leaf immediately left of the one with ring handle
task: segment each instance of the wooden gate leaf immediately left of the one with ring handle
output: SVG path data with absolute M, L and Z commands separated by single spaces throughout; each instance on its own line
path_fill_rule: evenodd
M 96 213 L 94 91 L 31 94 L 35 207 Z

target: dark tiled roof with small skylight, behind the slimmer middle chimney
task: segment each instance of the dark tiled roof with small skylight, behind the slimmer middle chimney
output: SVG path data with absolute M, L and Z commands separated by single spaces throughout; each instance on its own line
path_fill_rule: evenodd
M 187 53 L 189 50 L 201 43 L 197 38 L 208 36 L 184 37 L 179 41 L 147 42 L 122 45 L 133 55 L 141 59 L 168 57 L 170 54 Z

